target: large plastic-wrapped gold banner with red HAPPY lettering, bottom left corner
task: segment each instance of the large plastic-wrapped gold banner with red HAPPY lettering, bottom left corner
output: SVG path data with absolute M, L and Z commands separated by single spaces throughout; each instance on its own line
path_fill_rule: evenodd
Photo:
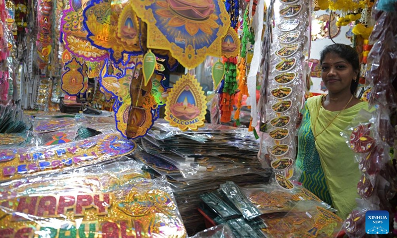
M 25 193 L 13 187 L 13 195 L 0 200 L 4 215 L 0 233 L 40 236 L 45 232 L 60 238 L 187 237 L 169 185 L 147 179 L 142 172 L 127 172 L 122 178 L 109 169 L 101 172 L 66 178 L 64 184 L 51 184 L 51 179 L 30 182 L 24 184 Z M 109 178 L 109 174 L 114 176 Z M 90 192 L 81 187 L 94 188 Z

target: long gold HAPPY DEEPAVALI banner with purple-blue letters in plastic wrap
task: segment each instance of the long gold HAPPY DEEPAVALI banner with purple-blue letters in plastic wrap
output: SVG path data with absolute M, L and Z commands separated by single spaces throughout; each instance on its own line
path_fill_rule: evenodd
M 62 145 L 0 149 L 0 181 L 99 163 L 131 154 L 135 147 L 118 134 L 106 134 Z

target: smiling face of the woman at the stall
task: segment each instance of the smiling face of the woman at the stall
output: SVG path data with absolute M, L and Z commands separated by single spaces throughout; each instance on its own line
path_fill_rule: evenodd
M 357 73 L 350 62 L 334 53 L 328 53 L 321 64 L 321 79 L 331 93 L 350 91 L 351 81 L 356 79 Z

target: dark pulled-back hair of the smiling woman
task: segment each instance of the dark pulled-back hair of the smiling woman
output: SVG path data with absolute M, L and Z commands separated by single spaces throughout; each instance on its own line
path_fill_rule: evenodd
M 358 59 L 357 52 L 348 45 L 344 45 L 344 44 L 329 45 L 326 48 L 324 48 L 324 50 L 322 50 L 320 53 L 320 65 L 323 63 L 323 60 L 326 58 L 326 56 L 330 53 L 336 54 L 340 58 L 346 60 L 351 64 L 354 71 L 357 70 L 357 80 L 351 81 L 351 85 L 350 85 L 350 92 L 351 94 L 354 95 L 358 87 L 358 81 L 360 79 L 360 60 Z

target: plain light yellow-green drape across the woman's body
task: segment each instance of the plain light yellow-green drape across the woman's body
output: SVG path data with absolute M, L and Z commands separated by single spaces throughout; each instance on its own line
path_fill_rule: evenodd
M 335 115 L 339 113 L 339 111 L 331 112 L 324 109 L 321 101 L 322 96 L 312 97 L 307 100 L 311 129 L 314 136 L 320 134 Z M 360 102 L 343 110 L 332 121 L 331 125 L 317 136 L 315 141 L 316 149 L 320 155 L 321 167 L 331 194 L 332 205 L 338 210 L 337 214 L 342 218 L 346 218 L 356 206 L 355 199 L 359 197 L 357 194 L 357 183 L 361 174 L 358 164 L 354 162 L 354 153 L 347 146 L 340 132 L 350 124 L 351 120 L 356 117 L 361 109 L 368 110 L 368 103 Z

